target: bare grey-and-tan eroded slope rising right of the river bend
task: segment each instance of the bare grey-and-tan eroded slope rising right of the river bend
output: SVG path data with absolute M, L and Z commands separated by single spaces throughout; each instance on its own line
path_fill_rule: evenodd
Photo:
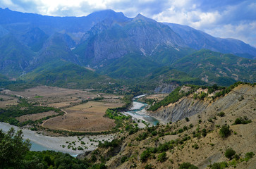
M 191 97 L 183 97 L 174 104 L 169 104 L 168 106 L 159 108 L 159 110 L 155 112 L 150 112 L 150 115 L 163 120 L 165 123 L 169 123 L 170 121 L 175 122 L 202 112 L 208 112 L 209 114 L 214 115 L 216 112 L 235 111 L 236 108 L 239 109 L 246 106 L 248 101 L 253 101 L 255 96 L 256 91 L 253 87 L 241 85 L 226 94 L 226 96 L 221 97 L 214 102 L 209 100 L 200 101 Z M 238 106 L 236 107 L 236 105 Z

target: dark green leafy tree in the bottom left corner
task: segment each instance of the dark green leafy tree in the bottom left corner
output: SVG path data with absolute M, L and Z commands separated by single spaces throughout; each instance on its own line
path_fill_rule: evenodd
M 6 134 L 0 130 L 0 168 L 17 168 L 23 163 L 31 144 L 28 139 L 23 142 L 22 133 L 13 127 Z

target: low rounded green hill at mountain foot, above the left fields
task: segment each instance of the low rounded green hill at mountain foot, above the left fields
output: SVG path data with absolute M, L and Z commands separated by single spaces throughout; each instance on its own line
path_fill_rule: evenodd
M 56 61 L 36 68 L 20 79 L 32 84 L 68 88 L 107 87 L 109 82 L 115 82 L 109 77 L 98 75 L 92 70 L 64 61 Z

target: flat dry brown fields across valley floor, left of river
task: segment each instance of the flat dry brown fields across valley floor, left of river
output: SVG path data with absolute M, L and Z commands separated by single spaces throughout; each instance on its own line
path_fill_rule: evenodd
M 0 108 L 6 104 L 18 104 L 18 98 L 23 97 L 31 102 L 37 102 L 40 106 L 52 106 L 62 108 L 65 115 L 48 119 L 42 124 L 44 127 L 54 130 L 70 131 L 106 131 L 115 126 L 114 120 L 104 118 L 103 115 L 107 108 L 123 106 L 121 98 L 114 94 L 104 94 L 92 92 L 90 89 L 63 89 L 59 87 L 38 86 L 25 89 L 23 92 L 3 90 L 0 93 Z M 103 97 L 103 100 L 90 101 L 95 98 Z M 85 104 L 82 101 L 88 100 Z M 74 106 L 77 105 L 77 106 Z M 67 108 L 69 107 L 69 108 Z M 53 111 L 23 115 L 17 118 L 20 122 L 26 120 L 39 120 L 49 115 L 54 115 Z

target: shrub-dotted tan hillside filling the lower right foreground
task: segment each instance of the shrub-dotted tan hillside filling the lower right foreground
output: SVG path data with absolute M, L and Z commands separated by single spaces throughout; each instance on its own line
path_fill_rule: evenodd
M 189 118 L 169 123 L 168 114 L 159 112 L 169 124 L 125 133 L 119 141 L 102 144 L 84 156 L 96 163 L 105 161 L 107 168 L 181 168 L 190 164 L 197 168 L 254 168 L 255 96 L 255 86 L 240 84 L 215 101 L 201 100 L 205 108 L 195 115 L 185 113 L 180 119 L 192 115 Z M 184 106 L 193 110 L 197 101 Z M 169 108 L 181 106 L 179 101 Z M 227 153 L 228 149 L 236 155 Z

